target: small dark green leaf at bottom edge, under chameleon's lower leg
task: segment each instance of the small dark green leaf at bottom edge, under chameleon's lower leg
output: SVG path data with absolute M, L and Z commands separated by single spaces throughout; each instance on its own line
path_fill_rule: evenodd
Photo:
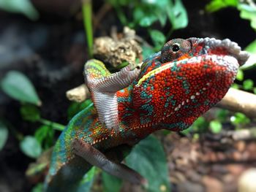
M 118 192 L 121 189 L 122 180 L 107 172 L 102 172 L 102 182 L 104 192 Z

